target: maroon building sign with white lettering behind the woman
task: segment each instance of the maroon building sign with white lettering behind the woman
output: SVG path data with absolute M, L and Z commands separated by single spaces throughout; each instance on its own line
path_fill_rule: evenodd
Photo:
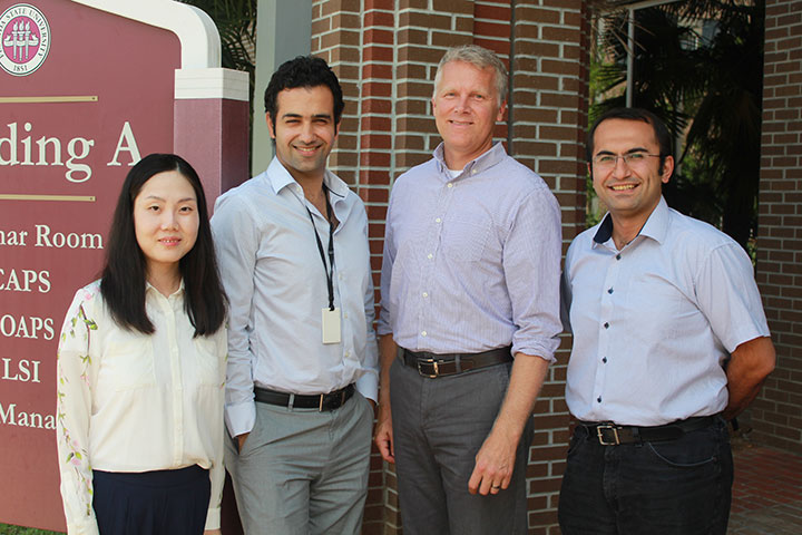
M 180 42 L 66 0 L 0 13 L 0 522 L 63 531 L 57 339 L 129 167 L 174 152 Z

